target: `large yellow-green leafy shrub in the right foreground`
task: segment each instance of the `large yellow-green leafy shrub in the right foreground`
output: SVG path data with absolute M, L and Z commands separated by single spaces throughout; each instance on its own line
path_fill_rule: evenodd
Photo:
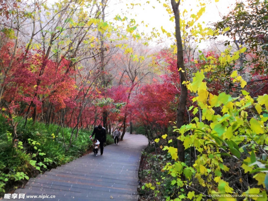
M 236 71 L 231 77 L 242 88 L 246 85 Z M 190 92 L 197 93 L 193 102 L 197 102 L 202 111 L 202 121 L 195 117 L 189 124 L 174 129 L 180 133 L 178 139 L 183 142 L 185 150 L 194 148 L 199 155 L 192 166 L 187 166 L 177 161 L 177 148 L 166 146 L 164 150 L 168 150 L 174 163 L 167 163 L 163 171 L 174 177 L 174 185 L 178 188 L 194 189 L 194 180 L 206 192 L 189 191 L 184 196 L 178 195 L 176 200 L 237 200 L 238 196 L 243 195 L 248 199 L 250 197 L 246 196 L 253 196 L 253 200 L 267 200 L 268 95 L 253 99 L 244 90 L 235 98 L 224 92 L 213 95 L 207 91 L 203 79 L 203 72 L 196 72 L 193 81 L 185 83 Z M 221 108 L 220 114 L 215 112 L 216 107 Z M 192 113 L 198 111 L 194 108 Z M 162 136 L 163 139 L 166 137 Z M 228 174 L 233 167 L 226 158 L 240 167 L 241 175 L 250 174 L 258 186 L 250 188 L 248 185 L 245 192 L 230 187 L 223 174 Z M 243 179 L 241 176 L 239 182 L 243 183 Z M 215 196 L 214 199 L 209 195 Z

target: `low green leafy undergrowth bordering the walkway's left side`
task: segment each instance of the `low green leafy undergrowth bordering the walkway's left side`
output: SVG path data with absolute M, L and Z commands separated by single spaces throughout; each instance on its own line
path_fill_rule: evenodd
M 19 117 L 16 122 L 21 122 Z M 91 131 L 80 130 L 72 146 L 66 150 L 65 140 L 70 138 L 71 129 L 59 129 L 57 125 L 45 125 L 40 122 L 17 125 L 15 143 L 12 142 L 12 129 L 8 120 L 0 116 L 0 197 L 7 191 L 16 189 L 30 177 L 50 170 L 88 152 L 91 148 L 89 135 Z M 113 139 L 107 135 L 107 144 Z

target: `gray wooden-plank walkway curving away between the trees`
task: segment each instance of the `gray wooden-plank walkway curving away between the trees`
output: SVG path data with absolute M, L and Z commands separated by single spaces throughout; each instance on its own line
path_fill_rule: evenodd
M 14 192 L 17 198 L 12 199 L 11 194 L 10 199 L 2 200 L 137 200 L 141 152 L 147 143 L 143 135 L 125 133 L 124 141 L 104 147 L 102 156 L 87 154 L 39 174 Z M 25 194 L 24 199 L 19 199 L 19 194 Z M 44 198 L 26 198 L 29 195 Z

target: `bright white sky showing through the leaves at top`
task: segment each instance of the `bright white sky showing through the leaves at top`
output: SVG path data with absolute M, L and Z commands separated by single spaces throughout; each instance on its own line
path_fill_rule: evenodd
M 206 11 L 203 14 L 203 16 L 200 18 L 200 22 L 205 21 L 205 24 L 208 24 L 210 22 L 216 22 L 218 20 L 221 20 L 219 11 L 221 14 L 227 14 L 229 12 L 229 6 L 234 4 L 236 0 L 219 0 L 219 2 L 215 3 L 214 0 L 211 0 L 212 3 L 206 4 Z M 116 0 L 110 0 L 111 7 L 108 8 L 113 10 L 112 13 L 121 13 L 126 10 L 129 11 L 129 13 L 125 13 L 125 15 L 128 18 L 134 18 L 137 23 L 140 24 L 140 22 L 144 21 L 144 23 L 148 24 L 148 28 L 142 27 L 140 24 L 139 30 L 140 31 L 150 31 L 153 27 L 161 31 L 161 26 L 163 26 L 164 29 L 168 32 L 174 32 L 174 22 L 171 22 L 170 15 L 166 12 L 166 8 L 163 7 L 163 3 L 165 3 L 164 0 L 162 0 L 162 3 L 159 3 L 156 0 L 151 0 L 150 3 L 145 3 L 147 0 L 135 0 L 135 3 L 141 3 L 142 6 L 135 6 L 134 9 L 127 9 L 126 3 L 130 4 L 130 0 L 124 0 L 124 3 L 117 3 L 116 6 L 112 6 L 113 2 L 116 2 Z M 170 1 L 167 1 L 169 3 Z M 200 9 L 198 8 L 196 0 L 185 0 L 183 2 L 183 5 L 180 5 L 181 12 L 186 9 L 188 13 L 195 13 Z M 155 8 L 153 8 L 153 6 Z M 110 16 L 113 14 L 110 13 Z M 123 14 L 122 14 L 123 16 Z

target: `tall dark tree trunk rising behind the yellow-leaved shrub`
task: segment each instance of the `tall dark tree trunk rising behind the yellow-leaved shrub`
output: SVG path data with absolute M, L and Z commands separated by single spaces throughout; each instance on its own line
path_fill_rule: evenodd
M 179 71 L 180 75 L 180 88 L 181 88 L 181 94 L 180 94 L 180 102 L 177 107 L 177 128 L 181 128 L 181 126 L 184 125 L 184 116 L 185 116 L 185 107 L 186 107 L 186 101 L 187 101 L 187 87 L 182 84 L 183 81 L 187 81 L 186 79 L 186 73 L 185 73 L 185 66 L 183 61 L 183 45 L 181 40 L 181 31 L 180 31 L 180 0 L 176 3 L 175 0 L 170 0 L 173 13 L 175 16 L 175 35 L 177 40 L 177 68 L 182 69 Z M 184 72 L 183 72 L 184 71 Z M 180 136 L 180 133 L 177 132 L 177 137 Z M 178 161 L 184 162 L 185 161 L 185 150 L 184 145 L 181 140 L 177 140 L 177 146 L 178 146 Z

